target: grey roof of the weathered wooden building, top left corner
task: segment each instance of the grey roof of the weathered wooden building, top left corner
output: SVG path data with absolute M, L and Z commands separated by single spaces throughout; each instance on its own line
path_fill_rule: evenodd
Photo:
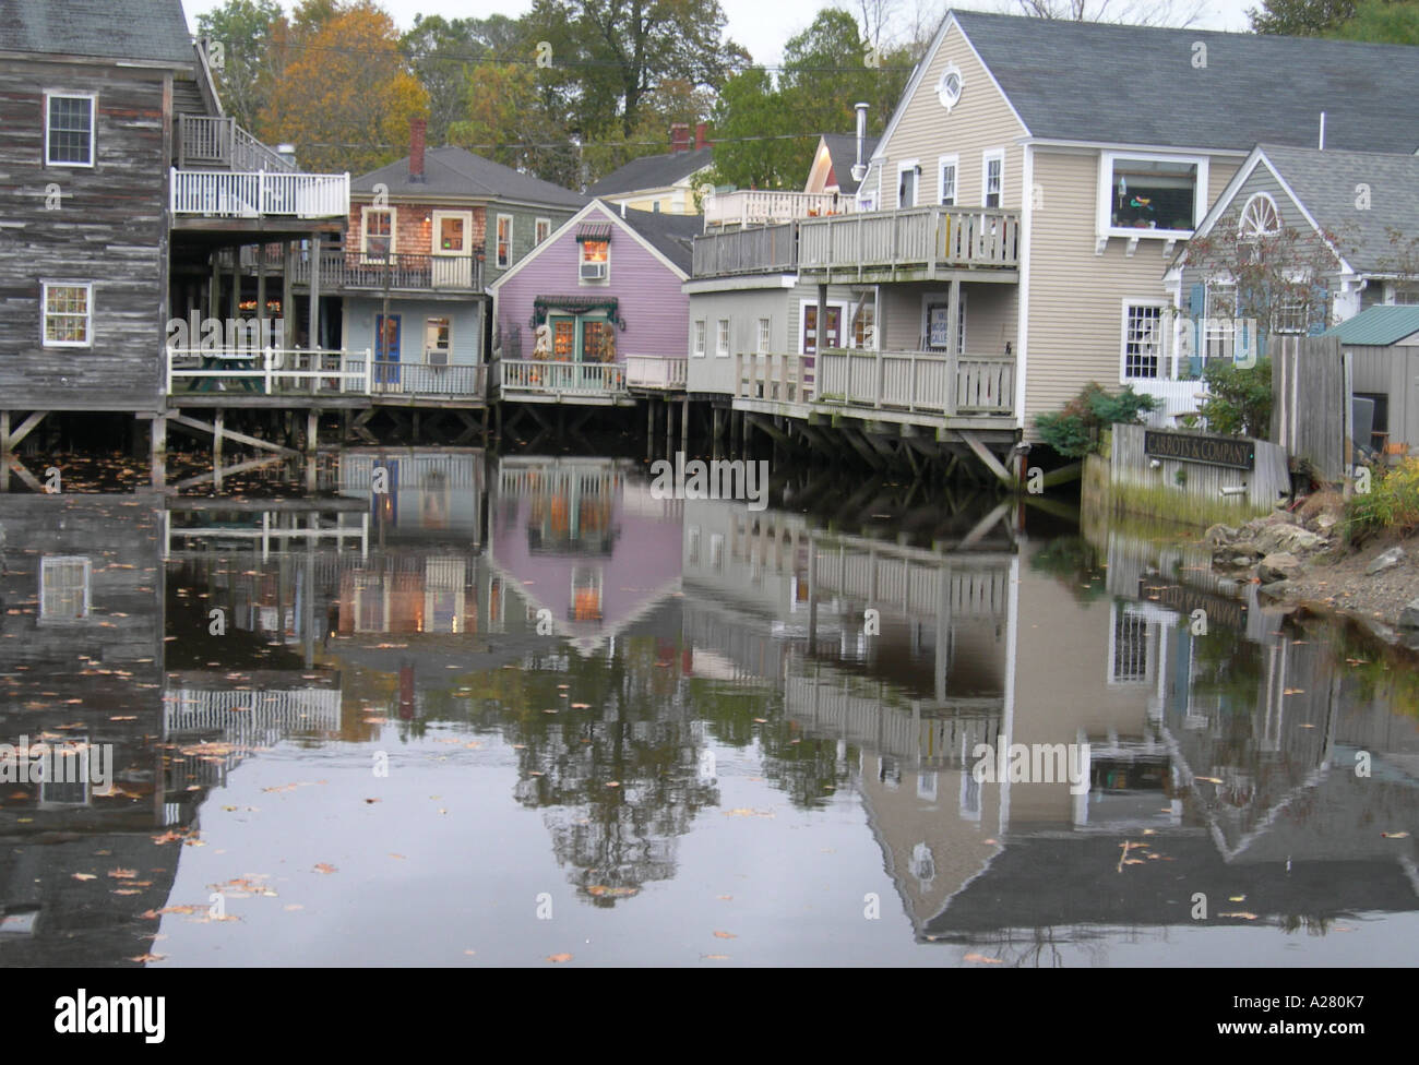
M 0 0 L 0 51 L 196 64 L 182 0 Z

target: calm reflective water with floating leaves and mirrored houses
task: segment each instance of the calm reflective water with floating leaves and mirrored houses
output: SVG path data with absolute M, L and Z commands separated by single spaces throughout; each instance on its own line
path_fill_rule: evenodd
M 643 471 L 0 495 L 0 742 L 112 757 L 7 763 L 0 963 L 1412 963 L 1408 659 L 1137 530 Z

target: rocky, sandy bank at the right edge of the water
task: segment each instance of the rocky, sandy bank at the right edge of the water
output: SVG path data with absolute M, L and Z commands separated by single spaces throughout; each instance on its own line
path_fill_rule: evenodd
M 1311 496 L 1239 528 L 1203 533 L 1215 573 L 1260 584 L 1273 601 L 1347 614 L 1389 644 L 1419 649 L 1419 545 L 1345 542 L 1340 496 Z

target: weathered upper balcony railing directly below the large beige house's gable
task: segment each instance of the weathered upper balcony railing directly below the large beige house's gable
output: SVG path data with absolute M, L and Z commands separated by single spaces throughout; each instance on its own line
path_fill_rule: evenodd
M 799 223 L 803 271 L 883 267 L 1020 264 L 1020 223 L 1012 211 L 911 207 Z

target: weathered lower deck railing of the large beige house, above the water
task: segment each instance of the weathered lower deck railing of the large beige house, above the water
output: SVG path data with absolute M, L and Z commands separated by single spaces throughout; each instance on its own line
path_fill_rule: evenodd
M 962 414 L 1015 413 L 1015 357 L 927 352 L 826 350 L 819 403 Z

